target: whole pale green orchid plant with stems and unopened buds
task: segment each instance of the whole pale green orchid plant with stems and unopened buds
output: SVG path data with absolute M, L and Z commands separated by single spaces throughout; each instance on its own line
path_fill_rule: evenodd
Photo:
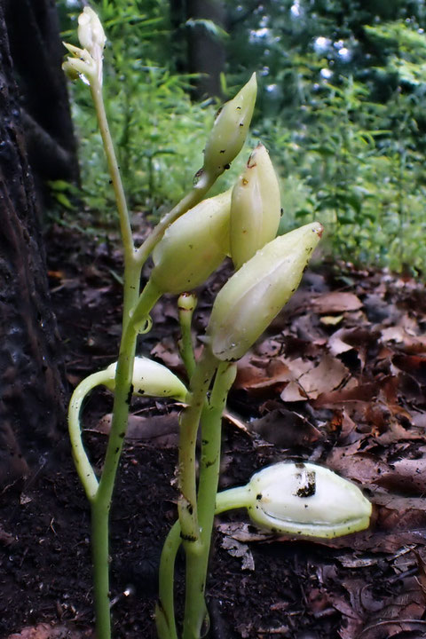
M 204 163 L 185 197 L 140 246 L 135 246 L 130 215 L 114 154 L 102 95 L 104 29 L 85 7 L 78 20 L 81 47 L 71 54 L 67 75 L 82 78 L 91 90 L 117 204 L 124 256 L 122 338 L 118 360 L 89 375 L 69 404 L 69 434 L 75 467 L 91 504 L 91 548 L 98 639 L 111 636 L 109 601 L 109 510 L 126 436 L 133 394 L 176 398 L 180 416 L 177 522 L 162 550 L 156 626 L 159 639 L 200 639 L 208 624 L 205 585 L 215 514 L 246 508 L 256 525 L 272 532 L 332 537 L 367 527 L 371 506 L 359 489 L 330 470 L 312 464 L 280 463 L 256 473 L 247 486 L 217 493 L 221 418 L 240 359 L 262 335 L 295 292 L 319 242 L 322 226 L 304 225 L 276 237 L 280 189 L 269 154 L 259 145 L 233 189 L 204 199 L 217 178 L 240 153 L 256 100 L 256 75 L 217 115 L 204 149 Z M 141 288 L 141 272 L 152 254 L 154 268 Z M 231 256 L 235 272 L 213 304 L 197 360 L 191 320 L 193 289 Z M 140 333 L 150 330 L 150 312 L 165 293 L 178 296 L 181 357 L 185 386 L 167 367 L 136 354 Z M 83 400 L 102 384 L 114 393 L 105 460 L 97 475 L 83 445 Z M 197 434 L 201 430 L 198 457 Z M 185 550 L 185 613 L 182 629 L 174 611 L 174 565 Z

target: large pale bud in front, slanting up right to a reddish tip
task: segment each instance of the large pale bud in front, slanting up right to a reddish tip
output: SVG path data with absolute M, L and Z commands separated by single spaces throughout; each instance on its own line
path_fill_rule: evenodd
M 217 359 L 240 359 L 298 287 L 322 234 L 318 222 L 272 240 L 219 291 L 207 335 Z

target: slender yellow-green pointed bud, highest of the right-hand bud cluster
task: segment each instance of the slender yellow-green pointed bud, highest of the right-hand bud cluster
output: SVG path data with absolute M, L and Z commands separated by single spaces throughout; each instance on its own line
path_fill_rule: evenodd
M 202 170 L 209 176 L 221 175 L 240 153 L 255 108 L 256 92 L 256 74 L 253 74 L 235 98 L 226 102 L 217 114 L 204 149 Z

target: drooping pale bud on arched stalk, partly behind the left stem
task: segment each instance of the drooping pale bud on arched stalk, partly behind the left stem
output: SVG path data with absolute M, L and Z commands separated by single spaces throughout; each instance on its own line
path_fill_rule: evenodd
M 117 362 L 107 367 L 105 370 L 106 375 L 102 378 L 102 383 L 109 390 L 114 390 L 115 388 L 116 367 Z M 135 358 L 132 384 L 135 395 L 172 397 L 179 401 L 185 401 L 188 392 L 185 384 L 169 368 L 145 357 Z

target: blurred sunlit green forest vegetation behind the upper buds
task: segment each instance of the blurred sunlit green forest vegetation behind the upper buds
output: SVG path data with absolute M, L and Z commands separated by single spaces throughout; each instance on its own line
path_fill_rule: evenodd
M 59 0 L 76 44 L 83 0 Z M 252 146 L 280 176 L 281 231 L 318 219 L 335 259 L 426 272 L 425 0 L 93 0 L 123 181 L 148 219 L 201 167 L 217 106 L 257 72 Z M 70 87 L 83 199 L 112 193 L 87 87 Z M 249 153 L 219 181 L 231 185 Z M 67 185 L 52 184 L 71 207 Z

